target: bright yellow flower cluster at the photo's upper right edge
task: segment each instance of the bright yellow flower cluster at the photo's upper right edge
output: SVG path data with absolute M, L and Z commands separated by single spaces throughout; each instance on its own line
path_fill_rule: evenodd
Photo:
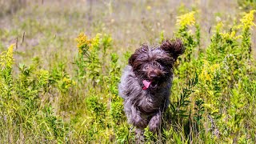
M 254 12 L 256 10 L 250 10 L 250 12 L 248 14 L 246 14 L 245 16 L 243 16 L 241 19 L 240 19 L 240 22 L 242 22 L 242 28 L 243 30 L 246 30 L 246 29 L 250 29 L 251 26 L 256 26 L 254 24 Z

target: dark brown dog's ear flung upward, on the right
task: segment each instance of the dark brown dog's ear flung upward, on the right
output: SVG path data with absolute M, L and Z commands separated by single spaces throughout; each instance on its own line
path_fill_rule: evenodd
M 175 39 L 172 41 L 165 40 L 162 42 L 160 48 L 169 53 L 175 61 L 177 60 L 178 56 L 182 55 L 185 51 L 185 47 L 180 39 Z

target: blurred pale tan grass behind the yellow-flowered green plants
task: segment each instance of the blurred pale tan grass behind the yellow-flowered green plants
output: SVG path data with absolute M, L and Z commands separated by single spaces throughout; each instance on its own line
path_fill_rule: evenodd
M 211 26 L 222 21 L 231 27 L 253 4 L 246 0 L 0 0 L 0 50 L 18 40 L 17 53 L 22 56 L 16 55 L 18 61 L 38 56 L 47 59 L 48 67 L 58 59 L 73 59 L 74 38 L 82 32 L 89 37 L 110 34 L 114 50 L 122 54 L 143 42 L 156 44 L 162 31 L 171 38 L 178 15 L 192 10 L 197 12 L 203 48 L 210 42 Z

